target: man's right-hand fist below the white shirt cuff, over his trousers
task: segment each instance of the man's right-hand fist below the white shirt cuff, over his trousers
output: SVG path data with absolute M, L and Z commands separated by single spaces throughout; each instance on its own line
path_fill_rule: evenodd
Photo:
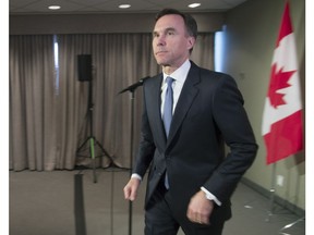
M 209 224 L 209 217 L 214 209 L 214 201 L 208 200 L 203 190 L 196 193 L 190 200 L 186 215 L 190 221 Z

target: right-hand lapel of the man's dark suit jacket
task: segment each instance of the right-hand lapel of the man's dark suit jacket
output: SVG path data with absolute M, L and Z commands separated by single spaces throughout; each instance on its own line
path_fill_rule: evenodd
M 174 110 L 167 145 L 169 145 L 169 143 L 172 140 L 178 128 L 182 124 L 188 111 L 190 110 L 196 95 L 198 94 L 198 89 L 195 87 L 195 85 L 198 83 L 200 83 L 198 67 L 193 62 L 191 62 L 191 69 L 189 71 L 186 81 L 183 85 L 183 88 L 181 90 L 181 94 L 180 94 L 180 97 L 179 97 L 179 100 Z

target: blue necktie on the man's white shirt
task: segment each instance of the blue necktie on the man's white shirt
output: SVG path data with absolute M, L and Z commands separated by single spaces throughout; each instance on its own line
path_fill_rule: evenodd
M 167 90 L 166 90 L 165 103 L 164 103 L 164 126 L 165 126 L 167 137 L 169 135 L 169 129 L 170 129 L 171 120 L 172 120 L 172 108 L 173 108 L 172 83 L 173 83 L 173 81 L 174 79 L 172 77 L 166 78 Z M 167 172 L 166 172 L 166 176 L 165 176 L 165 187 L 167 189 L 169 189 L 169 182 L 168 182 Z

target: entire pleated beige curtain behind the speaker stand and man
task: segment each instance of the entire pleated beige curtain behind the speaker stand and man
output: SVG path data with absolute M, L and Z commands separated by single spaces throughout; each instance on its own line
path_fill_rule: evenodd
M 160 72 L 152 52 L 152 35 L 59 35 L 58 45 L 59 67 L 55 69 L 53 36 L 10 37 L 10 169 L 90 166 L 89 141 L 83 145 L 90 133 L 97 141 L 97 166 L 130 168 L 140 137 L 142 89 L 134 92 L 133 137 L 131 94 L 119 91 Z M 213 70 L 213 49 L 214 34 L 201 34 L 192 60 Z M 78 54 L 92 54 L 92 82 L 77 79 Z

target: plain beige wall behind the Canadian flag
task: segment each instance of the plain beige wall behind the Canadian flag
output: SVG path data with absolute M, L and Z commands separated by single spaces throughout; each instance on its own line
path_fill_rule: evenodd
M 266 150 L 261 134 L 262 116 L 267 92 L 270 63 L 277 39 L 282 0 L 249 0 L 227 14 L 227 48 L 225 72 L 231 74 L 243 92 L 245 108 L 259 145 L 258 154 L 245 177 L 263 188 L 271 188 L 274 165 L 266 165 Z M 305 79 L 305 2 L 290 0 L 290 15 L 295 34 L 300 78 L 304 103 Z M 276 174 L 283 176 L 283 186 L 276 195 L 305 209 L 304 151 L 276 163 Z M 275 177 L 275 182 L 276 182 Z

